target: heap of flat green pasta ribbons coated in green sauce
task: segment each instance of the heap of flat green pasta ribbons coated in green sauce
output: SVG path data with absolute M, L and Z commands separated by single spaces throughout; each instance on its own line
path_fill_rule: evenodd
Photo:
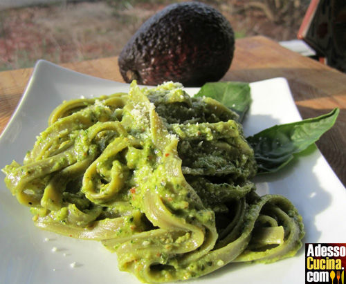
M 35 225 L 100 240 L 140 281 L 199 277 L 293 256 L 302 218 L 258 196 L 237 114 L 168 82 L 58 106 L 23 165 L 3 169 Z

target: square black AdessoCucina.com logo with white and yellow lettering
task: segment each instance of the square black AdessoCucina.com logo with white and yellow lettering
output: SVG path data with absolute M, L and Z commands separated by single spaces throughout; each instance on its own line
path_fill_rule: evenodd
M 305 244 L 305 283 L 344 284 L 345 243 Z

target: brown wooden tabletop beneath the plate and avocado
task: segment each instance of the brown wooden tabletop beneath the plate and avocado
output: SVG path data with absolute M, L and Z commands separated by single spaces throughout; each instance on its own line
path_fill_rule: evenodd
M 117 57 L 62 64 L 81 73 L 123 82 Z M 0 72 L 0 133 L 15 111 L 32 68 Z M 317 142 L 336 175 L 346 184 L 346 74 L 302 57 L 266 37 L 236 41 L 232 66 L 223 80 L 255 82 L 286 77 L 303 118 L 340 108 L 334 127 Z M 268 102 L 269 103 L 269 102 Z

